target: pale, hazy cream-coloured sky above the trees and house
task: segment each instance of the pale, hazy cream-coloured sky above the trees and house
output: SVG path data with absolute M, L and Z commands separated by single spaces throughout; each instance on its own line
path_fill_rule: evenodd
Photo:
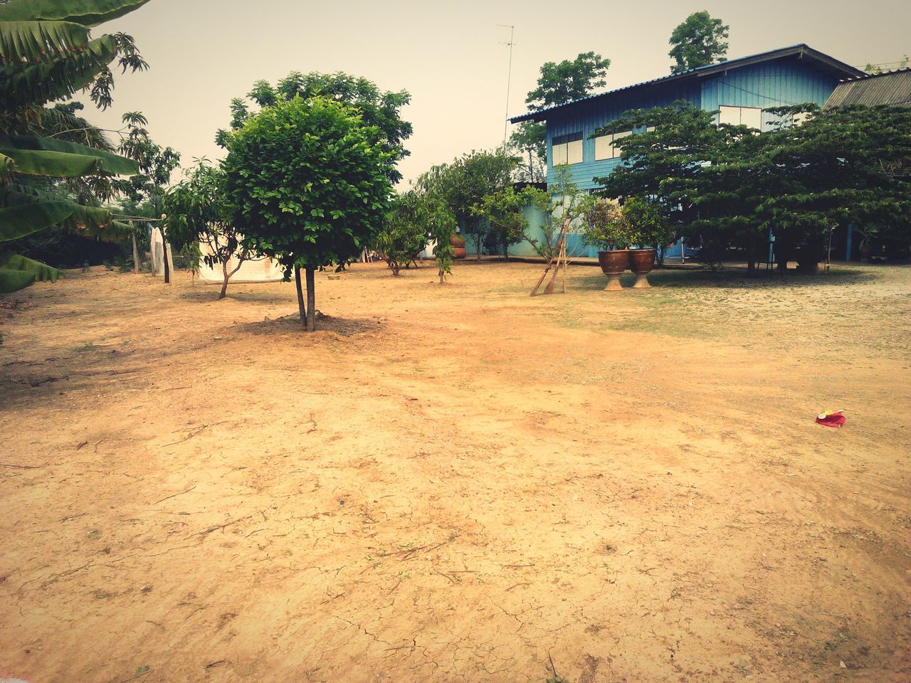
M 254 81 L 291 71 L 344 71 L 384 90 L 408 90 L 414 125 L 399 164 L 404 184 L 427 168 L 502 144 L 504 122 L 526 111 L 540 66 L 594 51 L 610 59 L 604 89 L 670 73 L 668 38 L 691 12 L 731 26 L 728 57 L 806 43 L 848 64 L 911 55 L 911 2 L 497 2 L 385 0 L 150 0 L 94 29 L 136 39 L 150 68 L 118 76 L 105 112 L 83 114 L 106 128 L 126 111 L 148 117 L 160 145 L 193 158 L 221 158 L 215 132 L 227 127 L 231 97 Z M 509 78 L 509 28 L 515 26 Z M 114 136 L 116 139 L 116 135 Z

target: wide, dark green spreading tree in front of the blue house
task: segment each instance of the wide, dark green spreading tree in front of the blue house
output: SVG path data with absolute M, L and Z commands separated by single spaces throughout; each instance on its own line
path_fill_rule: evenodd
M 819 260 L 833 226 L 848 221 L 911 239 L 911 110 L 768 111 L 779 123 L 761 135 L 685 104 L 628 112 L 596 134 L 654 130 L 619 140 L 623 163 L 597 178 L 602 192 L 647 199 L 669 230 L 701 241 L 710 264 L 732 246 L 746 250 L 751 271 L 770 229 L 780 268 L 798 248 Z

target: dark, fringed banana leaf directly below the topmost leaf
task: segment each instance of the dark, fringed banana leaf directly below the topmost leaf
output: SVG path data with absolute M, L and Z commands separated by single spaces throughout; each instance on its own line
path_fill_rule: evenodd
M 101 36 L 80 51 L 51 55 L 37 64 L 0 61 L 0 110 L 42 105 L 70 97 L 90 86 L 117 54 L 117 39 Z

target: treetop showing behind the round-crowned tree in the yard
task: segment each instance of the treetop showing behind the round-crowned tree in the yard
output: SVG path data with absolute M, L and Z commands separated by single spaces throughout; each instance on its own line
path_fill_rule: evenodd
M 402 107 L 411 102 L 407 90 L 386 92 L 363 77 L 351 76 L 342 72 L 321 74 L 311 72 L 302 74 L 292 71 L 275 86 L 264 80 L 257 81 L 247 97 L 259 107 L 271 107 L 280 101 L 290 101 L 294 97 L 326 97 L 345 105 L 357 108 L 361 114 L 363 126 L 372 128 L 374 142 L 390 155 L 394 162 L 407 157 L 411 152 L 404 148 L 404 142 L 411 137 L 412 125 L 402 119 Z M 251 116 L 250 107 L 240 97 L 230 103 L 231 127 L 240 128 Z M 216 141 L 223 144 L 227 132 L 220 130 Z M 394 184 L 402 179 L 402 174 L 394 166 L 389 168 L 389 180 Z

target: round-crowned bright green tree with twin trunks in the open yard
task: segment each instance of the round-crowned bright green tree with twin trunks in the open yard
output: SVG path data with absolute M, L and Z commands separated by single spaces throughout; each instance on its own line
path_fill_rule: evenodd
M 313 331 L 314 273 L 374 243 L 389 209 L 394 155 L 356 109 L 326 97 L 279 100 L 226 142 L 234 223 L 251 250 L 278 260 L 286 277 L 293 271 L 301 321 Z

